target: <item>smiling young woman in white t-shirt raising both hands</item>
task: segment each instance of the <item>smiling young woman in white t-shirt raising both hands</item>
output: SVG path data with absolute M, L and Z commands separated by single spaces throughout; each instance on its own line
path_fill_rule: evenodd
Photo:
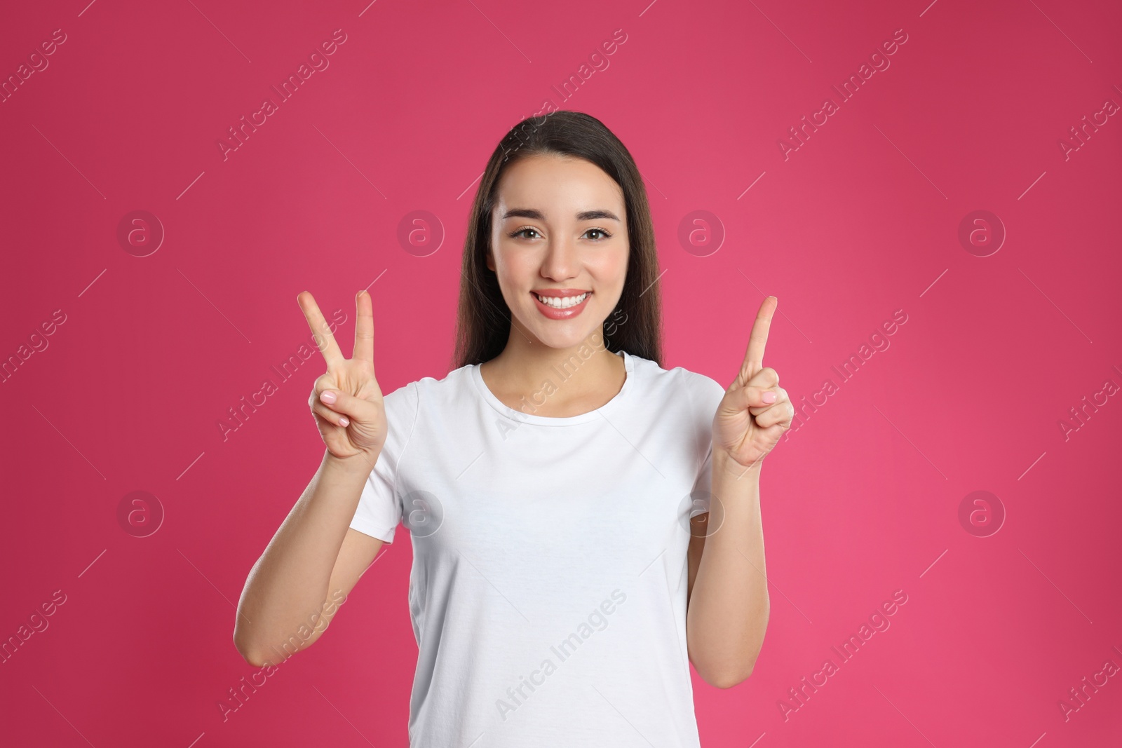
M 659 277 L 631 154 L 558 111 L 487 164 L 444 378 L 383 396 L 369 295 L 344 359 L 302 293 L 327 452 L 246 582 L 242 656 L 315 641 L 401 521 L 411 746 L 698 746 L 689 664 L 730 687 L 763 643 L 760 471 L 794 410 L 763 366 L 774 297 L 726 389 L 662 368 Z

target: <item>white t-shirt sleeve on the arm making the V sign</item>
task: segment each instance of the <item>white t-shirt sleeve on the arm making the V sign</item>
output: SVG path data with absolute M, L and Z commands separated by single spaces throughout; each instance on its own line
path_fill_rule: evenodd
M 402 519 L 397 498 L 397 465 L 416 425 L 420 405 L 417 382 L 410 382 L 383 396 L 386 408 L 386 442 L 374 464 L 350 527 L 385 543 L 394 542 L 394 530 Z

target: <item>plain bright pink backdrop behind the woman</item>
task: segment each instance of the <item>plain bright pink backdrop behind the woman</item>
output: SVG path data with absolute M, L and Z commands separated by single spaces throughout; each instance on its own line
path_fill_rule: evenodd
M 475 181 L 546 100 L 604 121 L 647 179 L 666 368 L 729 382 L 774 294 L 765 363 L 797 403 L 837 387 L 763 471 L 771 622 L 746 682 L 695 676 L 702 744 L 1122 737 L 1122 677 L 1059 707 L 1122 666 L 1122 398 L 1059 425 L 1122 385 L 1122 118 L 1096 114 L 1122 103 L 1118 3 L 86 2 L 0 26 L 4 79 L 66 38 L 0 103 L 0 357 L 47 343 L 0 386 L 0 637 L 65 595 L 0 665 L 0 741 L 406 745 L 404 530 L 328 636 L 232 701 L 257 669 L 233 606 L 323 453 L 322 362 L 218 424 L 307 339 L 304 289 L 346 315 L 349 352 L 370 288 L 384 391 L 442 377 Z M 223 160 L 219 138 L 335 29 L 330 66 Z M 842 102 L 831 85 L 896 29 L 891 66 Z M 827 96 L 838 111 L 784 158 Z M 1085 116 L 1106 122 L 1065 157 Z M 166 233 L 147 257 L 118 240 L 136 210 Z M 397 238 L 417 210 L 444 233 L 424 257 Z M 716 252 L 678 239 L 699 210 Z M 976 210 L 1008 234 L 987 257 L 958 239 Z M 831 367 L 896 310 L 890 348 L 843 381 Z M 959 521 L 976 490 L 1006 515 L 987 537 Z M 147 537 L 118 519 L 132 491 L 165 515 Z M 896 590 L 891 628 L 791 700 Z

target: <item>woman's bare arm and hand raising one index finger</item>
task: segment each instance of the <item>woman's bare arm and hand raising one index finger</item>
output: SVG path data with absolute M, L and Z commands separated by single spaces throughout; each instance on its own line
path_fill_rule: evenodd
M 736 380 L 712 419 L 709 514 L 690 539 L 686 637 L 690 662 L 710 685 L 729 689 L 752 674 L 767 628 L 770 601 L 760 517 L 763 459 L 791 427 L 794 407 L 764 368 L 764 344 L 779 301 L 760 306 Z M 700 554 L 700 558 L 698 558 Z

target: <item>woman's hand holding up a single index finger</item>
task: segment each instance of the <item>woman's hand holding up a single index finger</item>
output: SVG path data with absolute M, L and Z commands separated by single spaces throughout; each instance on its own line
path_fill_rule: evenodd
M 758 468 L 794 417 L 794 406 L 779 386 L 779 373 L 764 367 L 764 344 L 776 306 L 774 296 L 760 305 L 741 372 L 725 390 L 712 418 L 714 451 L 724 450 L 745 468 Z

